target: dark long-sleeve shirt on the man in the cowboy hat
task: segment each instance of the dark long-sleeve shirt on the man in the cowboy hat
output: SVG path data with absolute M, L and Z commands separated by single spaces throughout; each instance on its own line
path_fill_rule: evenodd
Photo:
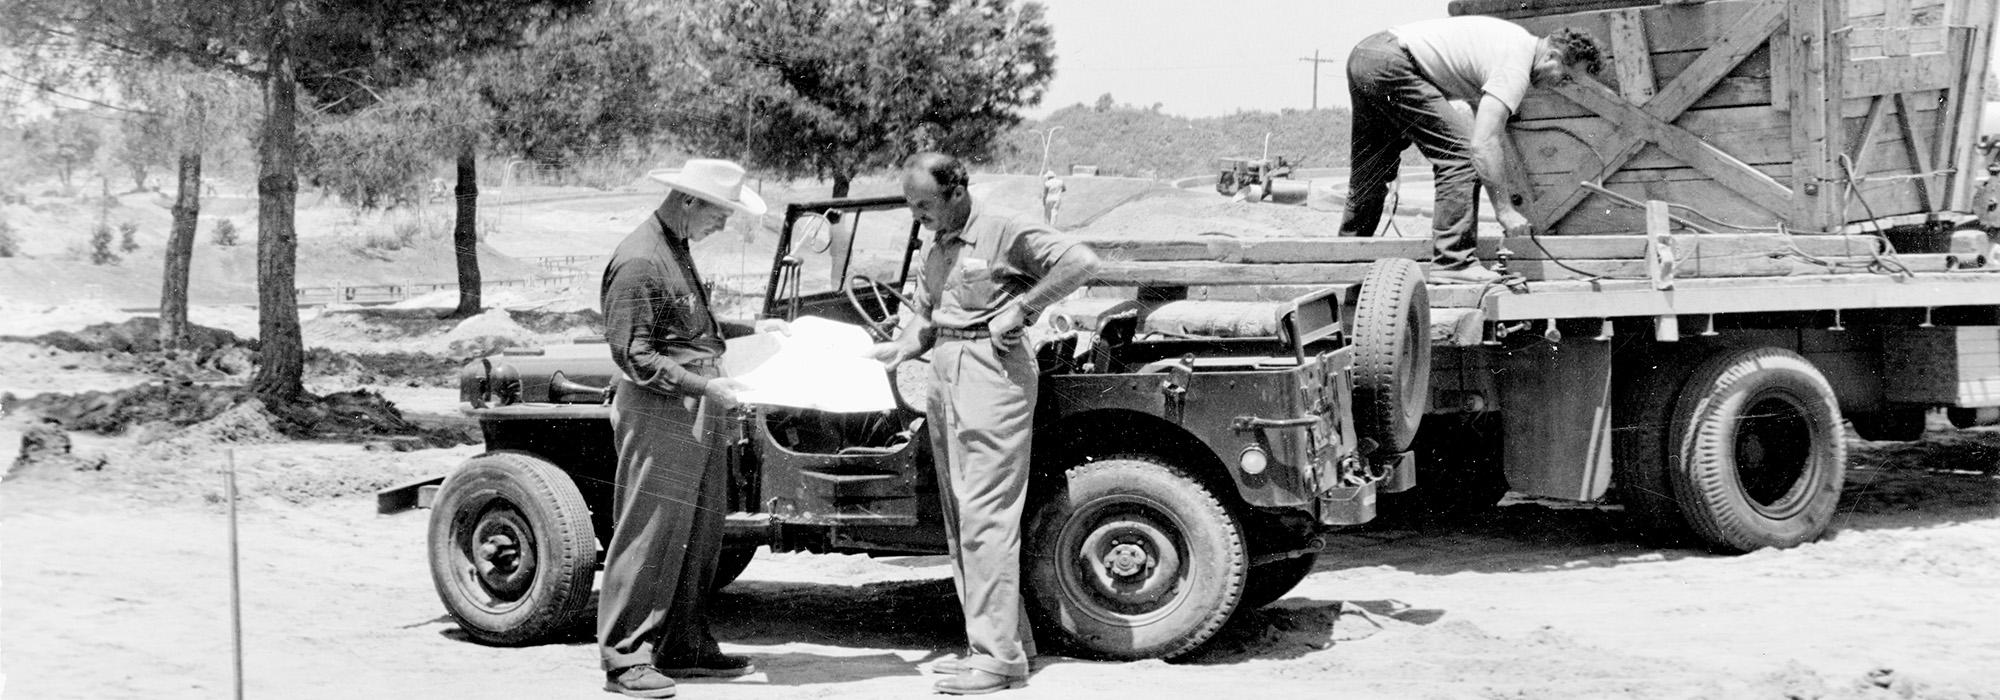
M 646 218 L 604 268 L 604 340 L 626 378 L 666 396 L 702 394 L 708 378 L 690 366 L 722 356 L 722 328 L 694 272 L 688 240 L 660 214 Z

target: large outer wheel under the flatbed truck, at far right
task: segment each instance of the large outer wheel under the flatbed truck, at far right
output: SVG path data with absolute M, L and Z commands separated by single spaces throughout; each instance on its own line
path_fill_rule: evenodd
M 1848 454 L 1834 388 L 1806 358 L 1718 352 L 1688 378 L 1668 430 L 1674 500 L 1710 548 L 1788 548 L 1826 532 Z

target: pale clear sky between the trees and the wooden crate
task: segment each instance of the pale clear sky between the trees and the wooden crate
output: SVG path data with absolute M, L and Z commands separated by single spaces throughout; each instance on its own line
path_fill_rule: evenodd
M 1040 0 L 1056 30 L 1048 116 L 1110 92 L 1120 104 L 1220 116 L 1346 106 L 1346 58 L 1390 26 L 1448 16 L 1450 0 Z M 1312 58 L 1320 52 L 1320 64 Z

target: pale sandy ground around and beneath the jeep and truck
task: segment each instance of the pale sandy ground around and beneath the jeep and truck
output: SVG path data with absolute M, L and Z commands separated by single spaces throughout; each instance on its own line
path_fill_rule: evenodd
M 1112 190 L 1104 196 L 1126 196 Z M 652 204 L 642 200 L 594 210 L 576 248 L 528 234 L 492 244 L 514 256 L 594 254 L 630 230 L 630 212 Z M 1156 216 L 1188 206 L 1126 204 Z M 1220 220 L 1326 216 L 1232 214 Z M 508 216 L 520 218 L 512 232 L 584 220 L 542 208 Z M 0 336 L 76 330 L 124 306 L 140 304 L 0 304 Z M 238 334 L 254 334 L 254 320 L 242 308 L 196 312 Z M 312 318 L 306 330 L 314 346 L 352 352 L 446 344 Z M 98 354 L 0 342 L 0 392 L 144 380 Z M 380 390 L 418 416 L 454 408 L 450 388 Z M 0 418 L 0 460 L 12 462 L 20 430 Z M 0 482 L 0 698 L 228 696 L 226 446 L 160 454 L 134 436 L 72 438 L 106 468 Z M 1992 456 L 2000 432 L 1934 432 L 1926 444 Z M 1980 444 L 1988 452 L 1968 448 Z M 466 640 L 428 578 L 428 512 L 374 514 L 374 488 L 442 474 L 476 450 L 234 446 L 248 696 L 606 698 L 584 636 L 528 648 Z M 1832 536 L 1750 556 L 1648 548 L 1616 512 L 1540 502 L 1448 526 L 1364 526 L 1332 536 L 1304 584 L 1240 614 L 1192 658 L 1044 658 L 1026 690 L 1002 698 L 2000 698 L 2000 478 L 1982 460 L 1948 470 L 1908 446 L 1856 444 L 1866 468 L 1850 472 Z M 940 558 L 760 552 L 724 590 L 716 634 L 760 672 L 688 682 L 682 698 L 928 696 L 938 676 L 924 666 L 962 644 Z

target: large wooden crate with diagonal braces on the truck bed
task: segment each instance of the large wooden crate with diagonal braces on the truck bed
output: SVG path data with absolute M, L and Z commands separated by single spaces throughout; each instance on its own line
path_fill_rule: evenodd
M 1996 0 L 1546 6 L 1494 14 L 1574 26 L 1610 60 L 1532 90 L 1512 122 L 1510 178 L 1542 230 L 1646 230 L 1584 182 L 1794 232 L 1970 212 Z

